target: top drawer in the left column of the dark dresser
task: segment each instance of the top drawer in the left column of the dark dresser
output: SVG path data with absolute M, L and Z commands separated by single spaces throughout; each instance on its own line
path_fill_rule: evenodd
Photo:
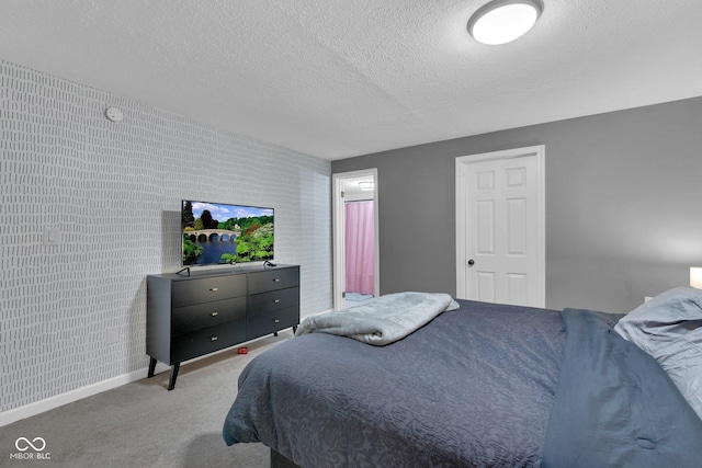
M 246 275 L 210 276 L 173 282 L 172 307 L 246 296 Z

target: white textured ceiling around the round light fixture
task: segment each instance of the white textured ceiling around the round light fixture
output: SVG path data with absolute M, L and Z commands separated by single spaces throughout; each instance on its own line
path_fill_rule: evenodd
M 1 0 L 0 58 L 339 159 L 702 95 L 701 0 Z

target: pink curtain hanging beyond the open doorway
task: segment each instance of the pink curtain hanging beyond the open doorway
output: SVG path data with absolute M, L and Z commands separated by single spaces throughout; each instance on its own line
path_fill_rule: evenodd
M 348 293 L 373 294 L 374 251 L 373 201 L 346 204 L 347 287 Z

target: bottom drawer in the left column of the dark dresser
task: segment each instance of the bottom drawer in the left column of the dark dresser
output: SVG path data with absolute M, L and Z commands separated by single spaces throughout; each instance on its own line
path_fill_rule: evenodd
M 246 320 L 220 323 L 173 338 L 171 363 L 202 356 L 246 340 Z

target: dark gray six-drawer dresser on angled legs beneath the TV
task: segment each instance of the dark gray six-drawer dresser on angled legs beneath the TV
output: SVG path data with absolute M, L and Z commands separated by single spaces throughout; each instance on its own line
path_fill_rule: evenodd
M 180 363 L 299 323 L 299 266 L 250 266 L 147 276 L 146 354 L 152 377 L 157 361 Z

